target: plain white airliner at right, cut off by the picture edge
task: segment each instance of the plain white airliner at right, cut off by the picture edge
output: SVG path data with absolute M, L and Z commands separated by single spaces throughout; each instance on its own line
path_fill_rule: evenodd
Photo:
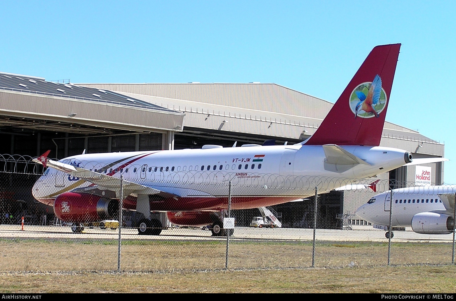
M 448 234 L 455 229 L 456 185 L 416 186 L 382 192 L 360 206 L 355 215 L 373 224 L 374 228 L 389 229 L 389 208 L 391 206 L 391 227 L 412 227 L 421 234 Z M 391 234 L 390 234 L 391 233 Z M 386 238 L 393 232 L 385 233 Z

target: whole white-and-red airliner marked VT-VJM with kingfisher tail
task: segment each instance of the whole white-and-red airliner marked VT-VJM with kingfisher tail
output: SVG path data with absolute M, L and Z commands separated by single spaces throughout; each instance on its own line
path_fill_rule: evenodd
M 139 234 L 160 234 L 163 225 L 151 211 L 166 211 L 172 223 L 210 225 L 213 235 L 222 235 L 229 181 L 231 208 L 248 209 L 294 201 L 313 195 L 316 186 L 325 192 L 413 164 L 410 152 L 379 147 L 399 48 L 373 48 L 306 141 L 83 153 L 58 161 L 47 158 L 48 151 L 34 159 L 49 168 L 33 186 L 33 196 L 81 232 L 85 222 L 119 214 L 122 176 L 123 208 L 142 214 L 135 226 Z

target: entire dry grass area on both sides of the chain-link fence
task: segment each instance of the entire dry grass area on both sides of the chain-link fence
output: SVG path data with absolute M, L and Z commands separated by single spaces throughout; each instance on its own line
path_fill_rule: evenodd
M 2 292 L 454 292 L 448 243 L 0 239 Z M 421 263 L 421 264 L 418 264 Z M 433 265 L 430 265 L 433 264 Z M 66 271 L 66 272 L 59 272 Z

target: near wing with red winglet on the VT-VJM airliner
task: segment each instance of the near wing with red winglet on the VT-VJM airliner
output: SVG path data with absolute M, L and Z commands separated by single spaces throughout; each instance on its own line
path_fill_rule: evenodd
M 71 174 L 73 176 L 76 176 L 80 179 L 86 180 L 90 183 L 93 183 L 98 186 L 98 188 L 106 188 L 108 190 L 119 190 L 120 189 L 120 179 L 107 175 L 107 174 L 100 174 L 97 172 L 94 172 L 92 170 L 88 169 L 83 169 L 81 167 L 73 166 L 70 164 L 54 161 L 45 158 L 46 162 L 43 162 L 43 158 L 36 158 L 33 159 L 33 162 L 38 163 L 38 164 L 43 164 L 45 166 L 52 167 L 54 169 L 63 171 L 64 173 Z M 128 194 L 130 193 L 140 193 L 140 194 L 147 194 L 147 195 L 155 195 L 155 194 L 160 194 L 160 193 L 166 193 L 168 195 L 171 195 L 173 197 L 177 197 L 177 195 L 173 195 L 170 193 L 167 193 L 166 191 L 161 191 L 157 190 L 152 187 L 148 187 L 146 185 L 141 185 L 138 183 L 133 183 L 127 180 L 123 180 L 123 188 L 126 191 L 129 191 Z

